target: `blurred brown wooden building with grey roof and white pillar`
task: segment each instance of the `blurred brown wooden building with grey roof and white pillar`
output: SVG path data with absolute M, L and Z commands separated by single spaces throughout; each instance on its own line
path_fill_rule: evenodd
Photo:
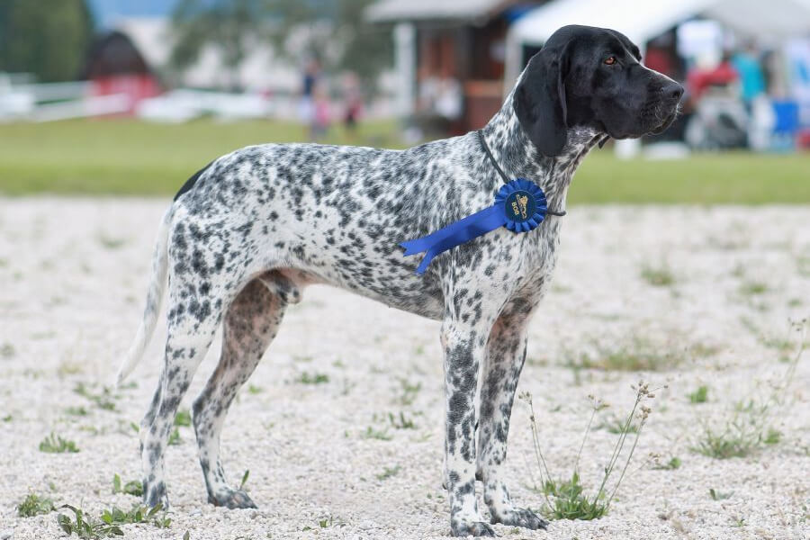
M 480 128 L 503 101 L 509 25 L 543 0 L 381 0 L 366 17 L 395 25 L 401 115 L 441 130 Z

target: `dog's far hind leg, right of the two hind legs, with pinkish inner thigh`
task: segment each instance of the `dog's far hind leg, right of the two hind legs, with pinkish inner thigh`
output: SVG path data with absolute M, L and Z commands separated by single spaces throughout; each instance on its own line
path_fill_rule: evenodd
M 193 404 L 194 431 L 211 504 L 229 509 L 256 508 L 245 491 L 234 490 L 225 481 L 220 432 L 231 401 L 275 338 L 288 296 L 293 293 L 298 296 L 293 284 L 268 273 L 247 284 L 225 315 L 220 363 Z

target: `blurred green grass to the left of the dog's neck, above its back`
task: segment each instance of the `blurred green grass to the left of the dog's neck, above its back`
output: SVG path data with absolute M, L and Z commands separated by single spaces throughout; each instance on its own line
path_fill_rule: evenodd
M 398 143 L 390 137 L 391 122 L 362 126 L 354 141 L 334 132 L 324 142 Z M 79 120 L 0 124 L 0 140 L 0 193 L 168 195 L 222 154 L 251 144 L 303 141 L 306 130 L 280 121 Z

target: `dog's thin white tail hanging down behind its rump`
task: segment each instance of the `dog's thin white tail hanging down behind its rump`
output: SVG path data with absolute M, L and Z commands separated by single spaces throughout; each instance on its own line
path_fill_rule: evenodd
M 143 311 L 143 320 L 140 321 L 138 333 L 135 340 L 127 351 L 118 374 L 115 377 L 115 386 L 119 386 L 127 375 L 132 373 L 138 365 L 143 351 L 149 344 L 152 332 L 155 331 L 157 317 L 160 314 L 160 302 L 163 300 L 163 291 L 166 288 L 166 269 L 168 267 L 167 240 L 169 224 L 172 220 L 172 210 L 169 208 L 163 215 L 160 222 L 160 229 L 157 230 L 157 242 L 155 243 L 155 254 L 152 256 L 152 276 L 149 280 L 147 293 L 147 304 Z

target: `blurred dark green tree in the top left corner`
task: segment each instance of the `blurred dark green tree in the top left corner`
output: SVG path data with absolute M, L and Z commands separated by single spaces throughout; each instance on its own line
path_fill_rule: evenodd
M 0 71 L 75 80 L 92 37 L 85 0 L 0 0 Z

